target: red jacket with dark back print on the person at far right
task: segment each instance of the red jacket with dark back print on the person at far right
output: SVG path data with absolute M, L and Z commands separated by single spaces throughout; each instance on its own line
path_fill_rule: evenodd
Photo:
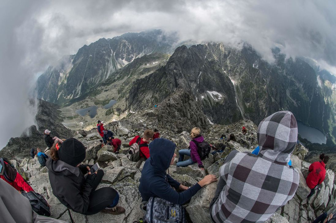
M 310 164 L 309 173 L 306 179 L 306 183 L 310 189 L 313 189 L 317 185 L 321 184 L 326 178 L 326 164 L 321 161 L 316 161 Z

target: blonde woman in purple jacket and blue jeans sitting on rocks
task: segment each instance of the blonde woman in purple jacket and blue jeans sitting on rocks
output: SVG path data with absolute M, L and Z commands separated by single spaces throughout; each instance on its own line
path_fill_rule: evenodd
M 180 149 L 178 151 L 179 157 L 178 157 L 178 162 L 176 163 L 176 166 L 189 166 L 194 163 L 198 163 L 198 167 L 204 170 L 203 163 L 201 161 L 200 155 L 198 154 L 198 147 L 196 143 L 201 143 L 204 141 L 203 136 L 200 134 L 201 129 L 198 127 L 195 127 L 191 130 L 190 132 L 190 137 L 192 138 L 192 141 L 189 143 L 189 149 Z M 194 142 L 196 141 L 196 143 Z M 190 159 L 187 159 L 183 161 L 184 155 L 190 156 Z

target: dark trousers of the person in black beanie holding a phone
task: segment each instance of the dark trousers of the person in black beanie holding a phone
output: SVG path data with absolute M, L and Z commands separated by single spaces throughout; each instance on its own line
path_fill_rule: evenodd
M 113 188 L 105 187 L 96 190 L 104 175 L 104 171 L 99 169 L 96 174 L 97 176 L 92 184 L 89 208 L 86 213 L 83 213 L 84 215 L 96 214 L 107 207 L 113 208 L 119 202 L 119 194 Z

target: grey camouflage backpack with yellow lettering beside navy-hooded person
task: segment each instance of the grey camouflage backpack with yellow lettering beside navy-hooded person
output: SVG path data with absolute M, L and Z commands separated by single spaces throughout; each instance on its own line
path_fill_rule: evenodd
M 159 197 L 151 197 L 146 203 L 146 210 L 143 219 L 149 223 L 186 222 L 185 210 L 181 205 Z

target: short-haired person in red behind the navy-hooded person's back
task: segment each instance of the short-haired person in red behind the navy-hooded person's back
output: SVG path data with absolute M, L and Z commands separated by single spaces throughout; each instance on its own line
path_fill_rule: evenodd
M 137 168 L 140 168 L 143 161 L 149 158 L 149 148 L 148 144 L 153 139 L 154 132 L 150 129 L 146 129 L 143 132 L 143 138 L 140 136 L 135 136 L 130 142 L 129 145 L 131 146 L 133 143 L 139 144 L 140 147 L 140 160 L 135 164 Z

